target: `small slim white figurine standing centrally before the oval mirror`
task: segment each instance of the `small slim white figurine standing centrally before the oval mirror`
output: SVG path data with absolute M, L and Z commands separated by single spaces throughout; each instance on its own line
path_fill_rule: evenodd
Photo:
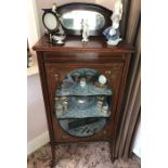
M 89 41 L 89 25 L 88 25 L 88 20 L 82 20 L 81 21 L 81 29 L 82 29 L 82 42 Z

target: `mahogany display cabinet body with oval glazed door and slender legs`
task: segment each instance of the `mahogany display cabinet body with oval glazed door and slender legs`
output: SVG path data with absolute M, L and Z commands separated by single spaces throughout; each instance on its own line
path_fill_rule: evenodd
M 106 44 L 104 37 L 82 43 L 69 36 L 54 46 L 43 36 L 35 46 L 50 132 L 59 143 L 108 141 L 113 152 L 133 48 Z M 102 83 L 103 85 L 102 85 Z

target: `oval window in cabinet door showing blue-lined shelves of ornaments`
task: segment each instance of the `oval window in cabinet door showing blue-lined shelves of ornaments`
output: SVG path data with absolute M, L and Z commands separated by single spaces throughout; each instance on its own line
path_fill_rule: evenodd
M 67 74 L 55 90 L 55 115 L 63 130 L 75 137 L 101 131 L 112 115 L 112 94 L 106 77 L 95 69 Z

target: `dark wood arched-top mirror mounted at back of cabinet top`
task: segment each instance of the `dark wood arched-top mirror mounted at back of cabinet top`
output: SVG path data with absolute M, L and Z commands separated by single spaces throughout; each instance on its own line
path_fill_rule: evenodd
M 88 20 L 89 35 L 103 36 L 103 30 L 112 25 L 113 12 L 92 3 L 67 3 L 56 9 L 66 35 L 81 35 L 81 21 Z

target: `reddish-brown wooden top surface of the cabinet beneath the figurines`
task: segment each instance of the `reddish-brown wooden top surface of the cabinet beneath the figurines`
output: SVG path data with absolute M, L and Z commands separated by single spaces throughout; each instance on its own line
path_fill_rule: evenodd
M 90 37 L 88 42 L 81 42 L 81 37 L 70 36 L 65 40 L 64 46 L 55 46 L 49 42 L 43 36 L 33 48 L 35 51 L 80 51 L 80 52 L 134 52 L 134 48 L 124 41 L 117 47 L 108 46 L 104 37 Z

